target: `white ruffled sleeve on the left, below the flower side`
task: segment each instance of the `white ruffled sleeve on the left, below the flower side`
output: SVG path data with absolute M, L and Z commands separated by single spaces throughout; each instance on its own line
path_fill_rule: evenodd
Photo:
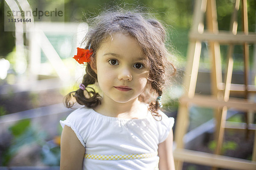
M 60 124 L 62 128 L 65 125 L 71 127 L 71 129 L 76 133 L 77 138 L 81 142 L 81 144 L 85 147 L 86 139 L 87 139 L 87 130 L 86 125 L 87 123 L 84 121 L 87 110 L 84 108 L 79 108 L 70 113 L 66 120 L 60 120 Z

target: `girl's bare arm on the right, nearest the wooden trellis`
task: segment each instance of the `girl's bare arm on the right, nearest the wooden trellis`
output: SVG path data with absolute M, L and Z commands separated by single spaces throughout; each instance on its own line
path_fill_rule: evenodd
M 159 170 L 175 170 L 172 144 L 173 133 L 171 130 L 167 139 L 158 144 Z

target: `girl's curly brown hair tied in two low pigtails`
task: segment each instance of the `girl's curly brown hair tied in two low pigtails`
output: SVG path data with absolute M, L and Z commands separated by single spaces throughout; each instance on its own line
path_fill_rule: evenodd
M 163 25 L 149 17 L 148 14 L 143 14 L 135 11 L 107 11 L 100 14 L 97 17 L 87 20 L 89 24 L 89 31 L 84 38 L 86 48 L 93 49 L 91 55 L 92 63 L 96 63 L 96 53 L 101 43 L 108 37 L 111 37 L 113 33 L 128 34 L 133 37 L 141 48 L 143 53 L 148 58 L 149 77 L 148 81 L 151 87 L 145 89 L 140 94 L 140 102 L 148 103 L 148 110 L 155 117 L 160 117 L 157 112 L 160 108 L 157 96 L 162 96 L 163 88 L 170 78 L 170 74 L 167 75 L 167 69 L 175 74 L 176 69 L 171 62 L 167 60 L 169 52 L 166 48 L 166 31 Z M 91 23 L 91 25 L 90 25 Z M 95 84 L 97 82 L 97 74 L 92 70 L 89 64 L 86 67 L 86 74 L 83 77 L 82 84 L 87 87 L 85 92 L 88 95 L 84 95 L 84 91 L 80 88 L 77 91 L 72 91 L 65 96 L 65 104 L 67 108 L 71 108 L 74 103 L 71 102 L 72 97 L 76 98 L 76 102 L 80 105 L 85 105 L 88 108 L 95 108 L 101 104 L 101 96 L 93 88 L 88 85 Z M 88 91 L 90 88 L 92 91 Z

